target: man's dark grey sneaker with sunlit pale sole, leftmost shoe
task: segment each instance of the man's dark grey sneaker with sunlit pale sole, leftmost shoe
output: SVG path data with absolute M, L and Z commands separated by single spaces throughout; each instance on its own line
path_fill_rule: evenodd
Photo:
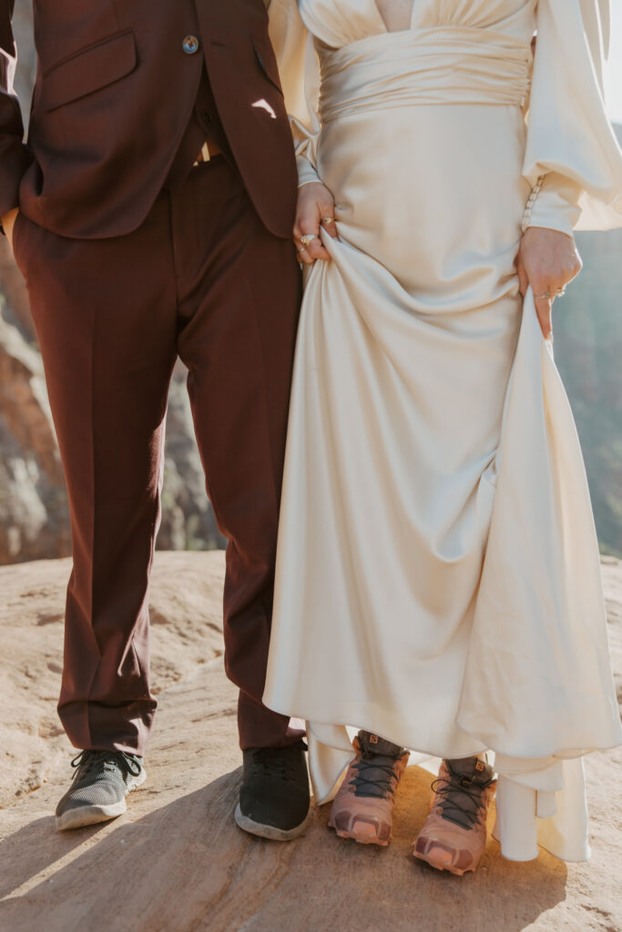
M 125 797 L 145 782 L 143 758 L 125 751 L 80 751 L 76 774 L 56 807 L 56 828 L 80 829 L 122 816 Z

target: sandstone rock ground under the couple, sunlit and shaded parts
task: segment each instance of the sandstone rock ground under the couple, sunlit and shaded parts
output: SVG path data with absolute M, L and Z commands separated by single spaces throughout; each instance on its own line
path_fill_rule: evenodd
M 429 774 L 408 768 L 386 850 L 339 843 L 314 810 L 289 844 L 232 820 L 240 783 L 235 690 L 222 668 L 224 557 L 159 554 L 151 605 L 159 716 L 144 788 L 127 816 L 59 835 L 52 813 L 71 748 L 54 703 L 68 561 L 0 569 L 0 928 L 11 932 L 620 932 L 619 750 L 587 759 L 593 857 L 505 861 L 490 842 L 475 875 L 409 857 Z M 622 674 L 622 564 L 603 563 Z M 618 687 L 622 680 L 618 678 Z

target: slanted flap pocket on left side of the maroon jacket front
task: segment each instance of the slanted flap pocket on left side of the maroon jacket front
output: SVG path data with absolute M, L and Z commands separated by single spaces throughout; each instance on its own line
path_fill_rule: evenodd
M 54 110 L 113 84 L 136 67 L 134 34 L 125 32 L 83 48 L 43 75 L 40 106 Z

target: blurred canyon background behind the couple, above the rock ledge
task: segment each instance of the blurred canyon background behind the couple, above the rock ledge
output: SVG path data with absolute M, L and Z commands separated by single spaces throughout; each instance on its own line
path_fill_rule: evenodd
M 35 75 L 32 4 L 17 0 L 24 117 Z M 622 126 L 617 126 L 622 140 Z M 574 409 L 604 554 L 622 556 L 622 230 L 577 235 L 584 270 L 556 306 L 555 355 Z M 221 547 L 180 365 L 171 390 L 158 546 Z M 70 553 L 67 500 L 21 274 L 0 238 L 0 563 Z

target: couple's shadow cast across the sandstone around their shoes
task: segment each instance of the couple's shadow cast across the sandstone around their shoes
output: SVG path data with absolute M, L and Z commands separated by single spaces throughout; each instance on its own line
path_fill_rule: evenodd
M 520 932 L 565 898 L 564 864 L 505 861 L 490 842 L 479 870 L 463 878 L 415 862 L 412 840 L 430 795 L 430 775 L 408 768 L 389 848 L 341 842 L 315 808 L 305 835 L 266 842 L 234 824 L 241 770 L 141 815 L 158 796 L 132 797 L 130 816 L 58 836 L 37 819 L 0 847 L 12 932 Z M 135 800 L 135 802 L 134 802 Z M 131 813 L 134 813 L 132 818 Z M 76 851 L 81 845 L 83 852 Z M 49 875 L 46 870 L 71 859 Z M 19 865 L 28 865 L 20 876 Z M 10 896 L 29 878 L 45 877 Z M 9 889 L 10 888 L 10 889 Z M 4 913 L 4 915 L 3 915 Z

